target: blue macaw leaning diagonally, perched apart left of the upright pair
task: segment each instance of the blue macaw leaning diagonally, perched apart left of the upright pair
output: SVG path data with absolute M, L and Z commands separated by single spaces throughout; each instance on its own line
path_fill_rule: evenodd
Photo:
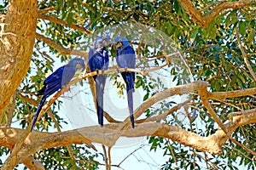
M 49 77 L 44 80 L 44 87 L 38 91 L 38 95 L 43 95 L 39 105 L 38 110 L 36 111 L 36 115 L 32 122 L 31 132 L 34 127 L 35 122 L 37 122 L 38 116 L 42 107 L 44 105 L 45 100 L 51 95 L 61 89 L 62 86 L 66 85 L 71 81 L 76 71 L 84 71 L 84 59 L 75 58 L 71 59 L 67 65 L 63 65 L 58 68 L 55 72 L 53 72 Z

